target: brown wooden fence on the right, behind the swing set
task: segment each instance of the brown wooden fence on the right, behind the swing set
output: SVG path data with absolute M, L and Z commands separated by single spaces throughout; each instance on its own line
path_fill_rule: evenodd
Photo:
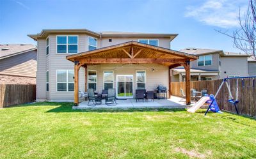
M 238 109 L 239 114 L 256 117 L 256 79 L 230 79 L 230 90 L 234 99 L 236 100 L 236 86 L 238 81 Z M 205 80 L 205 81 L 192 81 L 191 89 L 196 91 L 207 90 L 207 94 L 215 95 L 220 84 L 223 80 Z M 171 91 L 173 96 L 181 96 L 180 89 L 185 92 L 185 82 L 172 82 Z M 220 90 L 216 96 L 217 103 L 222 110 L 236 112 L 234 106 L 228 103 L 229 94 L 226 85 Z

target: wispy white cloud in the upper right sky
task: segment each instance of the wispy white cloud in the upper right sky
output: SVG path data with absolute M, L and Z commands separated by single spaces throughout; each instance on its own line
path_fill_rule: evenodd
M 237 27 L 239 7 L 243 14 L 247 2 L 237 0 L 207 0 L 198 6 L 188 6 L 185 17 L 193 17 L 204 24 L 217 27 Z

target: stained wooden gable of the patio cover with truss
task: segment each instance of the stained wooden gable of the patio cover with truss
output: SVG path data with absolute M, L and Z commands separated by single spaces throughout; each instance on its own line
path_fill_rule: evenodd
M 165 66 L 183 64 L 198 59 L 197 56 L 138 42 L 126 42 L 66 57 L 80 64 L 103 63 L 158 63 Z

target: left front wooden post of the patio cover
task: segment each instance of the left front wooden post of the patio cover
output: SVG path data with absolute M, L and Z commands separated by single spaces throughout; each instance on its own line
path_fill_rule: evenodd
M 74 62 L 74 106 L 78 106 L 79 61 Z

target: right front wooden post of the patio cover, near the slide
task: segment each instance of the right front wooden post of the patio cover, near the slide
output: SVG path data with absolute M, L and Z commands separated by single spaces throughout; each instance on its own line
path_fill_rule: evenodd
M 184 68 L 186 70 L 186 104 L 191 104 L 191 95 L 190 95 L 190 61 L 186 61 L 184 64 Z

